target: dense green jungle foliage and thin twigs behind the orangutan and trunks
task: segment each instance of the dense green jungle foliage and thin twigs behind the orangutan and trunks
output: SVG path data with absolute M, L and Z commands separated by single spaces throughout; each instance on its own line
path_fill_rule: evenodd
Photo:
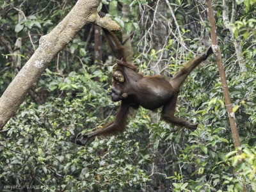
M 40 36 L 76 1 L 0 2 L 2 95 Z M 0 190 L 256 191 L 256 1 L 216 0 L 212 7 L 240 156 L 213 55 L 191 72 L 179 94 L 176 115 L 199 123 L 196 131 L 161 121 L 161 109 L 140 108 L 124 133 L 98 137 L 85 147 L 71 143 L 70 136 L 97 129 L 118 109 L 109 94 L 115 57 L 101 29 L 87 25 L 51 61 L 0 132 Z M 99 10 L 120 24 L 116 34 L 146 76 L 171 78 L 211 45 L 204 1 L 104 0 Z

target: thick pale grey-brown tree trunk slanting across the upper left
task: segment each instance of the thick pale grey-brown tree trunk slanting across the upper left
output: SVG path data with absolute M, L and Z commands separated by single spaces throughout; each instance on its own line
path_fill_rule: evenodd
M 109 17 L 99 17 L 97 14 L 99 3 L 100 0 L 77 1 L 60 24 L 51 33 L 40 38 L 38 49 L 0 98 L 0 130 L 15 115 L 31 86 L 36 83 L 52 58 L 74 38 L 84 25 L 93 23 L 109 31 L 120 30 L 120 26 Z

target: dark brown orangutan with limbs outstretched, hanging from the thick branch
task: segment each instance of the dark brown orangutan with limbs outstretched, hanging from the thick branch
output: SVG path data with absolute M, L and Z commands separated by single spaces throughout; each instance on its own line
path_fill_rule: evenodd
M 150 110 L 163 107 L 161 114 L 163 120 L 173 125 L 195 130 L 198 124 L 191 124 L 188 120 L 174 116 L 175 106 L 180 86 L 184 83 L 189 73 L 212 53 L 211 47 L 200 56 L 188 61 L 170 80 L 165 79 L 163 76 L 144 77 L 135 72 L 136 67 L 126 62 L 124 48 L 116 36 L 105 29 L 104 32 L 109 46 L 118 59 L 118 67 L 113 73 L 111 99 L 114 102 L 121 100 L 121 105 L 116 113 L 115 120 L 104 125 L 99 131 L 84 134 L 80 140 L 77 140 L 77 143 L 84 145 L 90 138 L 95 136 L 113 135 L 124 131 L 129 108 L 138 109 L 140 106 Z

